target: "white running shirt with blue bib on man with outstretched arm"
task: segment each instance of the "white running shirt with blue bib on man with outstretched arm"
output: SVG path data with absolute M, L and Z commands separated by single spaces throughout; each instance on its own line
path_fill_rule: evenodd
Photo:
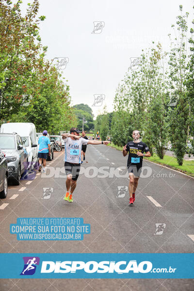
M 87 145 L 89 140 L 80 137 L 79 140 L 73 140 L 70 137 L 64 139 L 65 145 L 65 162 L 81 163 L 81 146 Z

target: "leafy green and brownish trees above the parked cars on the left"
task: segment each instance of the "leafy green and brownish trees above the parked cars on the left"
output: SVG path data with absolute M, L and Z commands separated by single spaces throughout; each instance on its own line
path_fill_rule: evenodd
M 38 35 L 45 16 L 37 17 L 38 0 L 21 16 L 20 3 L 12 7 L 10 1 L 0 1 L 1 123 L 33 122 L 39 131 L 51 133 L 69 129 L 76 123 L 69 86 L 45 59 L 47 47 L 42 47 Z

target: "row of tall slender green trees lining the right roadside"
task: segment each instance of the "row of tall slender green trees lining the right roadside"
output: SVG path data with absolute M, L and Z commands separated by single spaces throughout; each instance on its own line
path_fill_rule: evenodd
M 151 155 L 155 149 L 160 159 L 171 141 L 182 165 L 186 142 L 190 140 L 194 146 L 190 138 L 194 136 L 194 30 L 190 29 L 188 40 L 188 13 L 182 16 L 182 5 L 179 8 L 177 26 L 172 25 L 177 31 L 170 52 L 163 52 L 161 44 L 154 42 L 143 51 L 139 69 L 129 68 L 117 87 L 111 121 L 108 113 L 98 115 L 95 129 L 100 134 L 111 129 L 116 146 L 132 140 L 132 130 L 138 129 Z

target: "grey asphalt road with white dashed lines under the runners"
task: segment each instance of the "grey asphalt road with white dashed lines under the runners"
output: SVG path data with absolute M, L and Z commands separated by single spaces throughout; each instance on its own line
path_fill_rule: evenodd
M 194 235 L 194 178 L 144 161 L 147 170 L 139 180 L 135 206 L 129 207 L 129 194 L 123 188 L 128 187 L 129 180 L 121 176 L 125 173 L 121 167 L 126 166 L 127 157 L 108 146 L 89 145 L 86 151 L 88 163 L 81 166 L 84 174 L 78 178 L 74 202 L 68 203 L 63 200 L 65 177 L 59 177 L 63 158 L 64 152 L 54 152 L 47 174 L 52 167 L 55 175 L 40 174 L 32 182 L 21 181 L 20 186 L 9 186 L 7 198 L 0 201 L 1 253 L 194 252 L 194 241 L 188 236 Z M 97 169 L 103 166 L 107 166 L 105 171 L 109 177 L 102 174 L 97 177 Z M 114 168 L 121 168 L 121 171 L 113 175 Z M 61 172 L 61 175 L 64 174 Z M 53 188 L 49 199 L 42 199 L 45 187 Z M 118 187 L 122 187 L 124 192 L 119 192 Z M 16 223 L 18 217 L 82 217 L 84 223 L 91 225 L 91 233 L 85 234 L 83 241 L 17 241 L 16 235 L 9 233 L 9 226 Z M 155 224 L 165 226 L 162 235 L 155 234 Z M 0 280 L 0 291 L 26 290 L 193 291 L 194 280 Z

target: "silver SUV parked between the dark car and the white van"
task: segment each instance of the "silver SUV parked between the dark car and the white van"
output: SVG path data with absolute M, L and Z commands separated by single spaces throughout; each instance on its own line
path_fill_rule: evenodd
M 16 132 L 0 133 L 0 148 L 7 160 L 8 178 L 12 179 L 15 185 L 19 185 L 20 177 L 25 170 L 25 162 L 28 159 L 21 137 Z

